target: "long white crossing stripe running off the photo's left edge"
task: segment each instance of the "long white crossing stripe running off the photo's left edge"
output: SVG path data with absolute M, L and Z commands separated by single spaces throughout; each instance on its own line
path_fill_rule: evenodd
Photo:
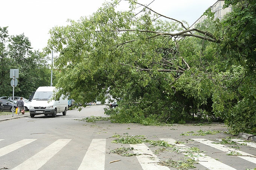
M 2 139 L 3 140 L 3 139 Z M 8 154 L 16 149 L 19 149 L 20 147 L 23 147 L 25 145 L 27 145 L 28 143 L 31 143 L 33 141 L 35 141 L 36 139 L 23 139 L 20 140 L 19 142 L 13 143 L 11 145 L 8 145 L 6 147 L 0 148 L 0 157 Z

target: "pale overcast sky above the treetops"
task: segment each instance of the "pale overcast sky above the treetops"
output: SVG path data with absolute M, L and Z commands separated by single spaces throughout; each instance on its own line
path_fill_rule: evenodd
M 42 51 L 51 28 L 67 25 L 68 19 L 90 16 L 105 1 L 111 0 L 1 0 L 0 27 L 8 27 L 9 35 L 24 33 L 33 50 Z M 138 2 L 148 5 L 152 0 Z M 165 16 L 185 20 L 191 26 L 215 2 L 217 0 L 154 0 L 149 7 Z

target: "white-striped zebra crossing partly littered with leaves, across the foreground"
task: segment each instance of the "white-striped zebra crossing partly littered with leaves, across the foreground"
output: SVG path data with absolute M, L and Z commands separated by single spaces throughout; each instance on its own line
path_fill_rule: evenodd
M 4 141 L 4 139 L 0 139 L 0 169 L 4 168 L 1 165 L 1 162 L 3 161 L 1 158 L 4 156 L 8 156 L 10 153 L 15 152 L 26 152 L 23 148 L 25 146 L 31 145 L 33 142 L 38 141 L 40 139 L 23 139 L 18 142 L 12 143 L 10 145 L 2 146 L 1 142 Z M 38 170 L 38 169 L 44 169 L 42 168 L 44 165 L 46 165 L 51 158 L 57 155 L 59 151 L 61 151 L 63 148 L 67 147 L 68 143 L 70 143 L 74 139 L 58 139 L 56 141 L 53 141 L 52 144 L 48 145 L 41 151 L 38 151 L 38 153 L 35 153 L 30 158 L 26 158 L 26 160 L 23 160 L 22 163 L 19 163 L 17 165 L 13 165 L 13 167 L 7 167 L 9 169 L 13 170 Z M 168 142 L 170 145 L 173 145 L 177 148 L 179 148 L 179 151 L 181 151 L 181 154 L 184 154 L 185 156 L 194 159 L 198 161 L 198 163 L 203 167 L 202 169 L 209 169 L 209 170 L 238 170 L 234 165 L 227 165 L 223 163 L 221 160 L 217 160 L 215 158 L 211 158 L 207 155 L 207 153 L 190 153 L 188 154 L 186 152 L 188 147 L 185 144 L 180 144 L 174 139 L 160 139 L 163 141 Z M 253 168 L 256 168 L 256 156 L 250 153 L 246 153 L 244 151 L 240 151 L 236 148 L 231 148 L 227 145 L 223 144 L 217 144 L 214 141 L 207 140 L 207 139 L 201 139 L 201 138 L 194 138 L 192 139 L 194 142 L 201 143 L 205 147 L 213 148 L 214 150 L 218 150 L 221 152 L 224 152 L 226 154 L 233 152 L 237 153 L 236 159 L 239 159 L 237 161 L 243 162 L 246 165 L 247 163 L 253 164 Z M 253 150 L 256 149 L 256 144 L 253 142 L 245 142 L 240 139 L 232 139 L 232 141 L 236 143 L 240 143 L 243 145 L 247 145 L 248 147 L 252 148 Z M 87 151 L 82 159 L 82 162 L 80 162 L 79 167 L 74 167 L 73 169 L 78 170 L 105 170 L 106 168 L 106 146 L 108 145 L 106 139 L 93 139 L 90 143 L 90 146 L 87 148 Z M 137 153 L 136 160 L 133 158 L 130 158 L 132 161 L 137 161 L 140 167 L 137 167 L 136 169 L 142 169 L 142 170 L 170 170 L 174 168 L 170 168 L 167 166 L 160 165 L 159 162 L 161 162 L 161 158 L 159 158 L 157 155 L 153 153 L 150 147 L 148 147 L 145 143 L 140 144 L 130 144 L 131 148 L 134 148 L 132 151 L 133 153 Z M 227 156 L 228 157 L 228 156 Z M 129 158 L 127 158 L 129 159 Z M 8 163 L 5 163 L 5 165 Z M 115 169 L 118 169 L 116 167 Z M 129 165 L 127 165 L 127 168 L 129 169 Z M 200 168 L 197 168 L 200 169 Z M 249 169 L 249 168 L 248 168 Z

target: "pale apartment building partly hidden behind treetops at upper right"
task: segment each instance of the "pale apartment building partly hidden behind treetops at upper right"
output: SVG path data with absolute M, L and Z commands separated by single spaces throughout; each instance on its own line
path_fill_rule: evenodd
M 223 9 L 223 5 L 224 5 L 224 0 L 218 0 L 217 2 L 214 3 L 214 5 L 210 6 L 209 8 L 211 8 L 212 12 L 215 12 L 215 17 L 218 19 L 223 19 L 224 15 L 228 12 L 232 11 L 232 7 L 229 6 L 228 8 Z M 204 19 L 206 19 L 207 16 L 203 15 L 201 16 L 198 20 L 196 20 L 195 23 L 193 23 L 191 25 L 190 28 L 195 28 L 195 25 L 197 23 L 203 22 Z

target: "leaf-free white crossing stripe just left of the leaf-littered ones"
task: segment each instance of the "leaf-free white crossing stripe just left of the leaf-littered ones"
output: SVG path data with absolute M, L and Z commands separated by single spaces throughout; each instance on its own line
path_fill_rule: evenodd
M 106 139 L 93 139 L 78 170 L 104 170 Z

